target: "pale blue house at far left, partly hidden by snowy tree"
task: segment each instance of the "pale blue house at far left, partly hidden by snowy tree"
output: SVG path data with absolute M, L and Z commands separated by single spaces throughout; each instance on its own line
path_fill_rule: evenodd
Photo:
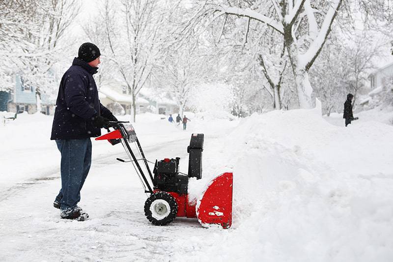
M 37 100 L 35 87 L 24 83 L 23 76 L 15 75 L 14 90 L 0 92 L 0 111 L 8 112 L 37 112 Z M 41 113 L 53 115 L 55 113 L 55 103 L 50 96 L 41 94 Z

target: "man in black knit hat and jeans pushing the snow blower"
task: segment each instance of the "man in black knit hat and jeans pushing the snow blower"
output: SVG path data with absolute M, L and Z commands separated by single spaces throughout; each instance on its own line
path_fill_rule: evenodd
M 100 64 L 100 50 L 84 43 L 64 73 L 56 100 L 51 140 L 61 153 L 61 189 L 54 206 L 63 219 L 83 221 L 88 215 L 77 205 L 91 165 L 91 137 L 101 135 L 106 121 L 117 121 L 98 99 L 93 79 Z

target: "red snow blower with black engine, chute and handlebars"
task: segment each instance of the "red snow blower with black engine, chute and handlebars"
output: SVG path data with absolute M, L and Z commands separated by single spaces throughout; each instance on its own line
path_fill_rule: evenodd
M 144 213 L 153 225 L 163 226 L 175 217 L 188 217 L 197 218 L 202 226 L 217 224 L 224 229 L 231 226 L 232 173 L 224 173 L 210 181 L 198 199 L 191 199 L 188 194 L 189 178 L 202 178 L 203 134 L 191 136 L 190 146 L 187 147 L 190 154 L 187 175 L 179 172 L 179 157 L 164 158 L 155 163 L 146 160 L 135 130 L 129 122 L 111 121 L 106 126 L 109 133 L 95 140 L 108 140 L 112 145 L 123 145 L 129 160 L 117 160 L 133 164 L 145 193 L 150 194 L 144 204 Z M 109 128 L 114 131 L 111 132 Z M 136 147 L 138 158 L 131 149 L 132 146 Z M 148 162 L 154 164 L 154 177 Z

